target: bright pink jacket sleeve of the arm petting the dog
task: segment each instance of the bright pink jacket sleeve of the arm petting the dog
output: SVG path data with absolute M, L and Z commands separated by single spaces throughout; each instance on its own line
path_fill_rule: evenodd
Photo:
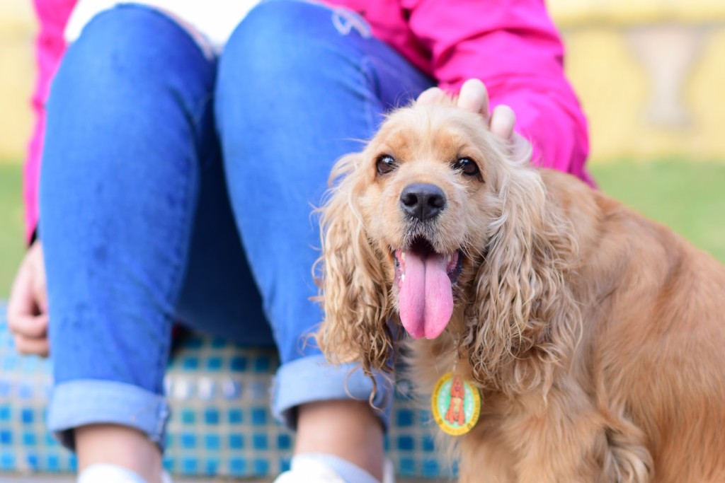
M 584 168 L 587 121 L 563 72 L 563 44 L 543 0 L 402 0 L 410 29 L 431 53 L 439 85 L 457 92 L 468 78 L 508 104 L 534 162 L 593 184 Z

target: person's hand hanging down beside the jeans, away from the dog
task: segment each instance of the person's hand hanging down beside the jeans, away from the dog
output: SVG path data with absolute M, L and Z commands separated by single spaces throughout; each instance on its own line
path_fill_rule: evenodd
M 30 245 L 17 271 L 7 321 L 18 352 L 48 356 L 48 295 L 40 240 Z

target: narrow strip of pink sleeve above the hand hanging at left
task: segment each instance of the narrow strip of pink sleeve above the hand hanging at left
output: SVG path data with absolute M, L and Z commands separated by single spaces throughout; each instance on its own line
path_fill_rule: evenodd
M 63 30 L 76 0 L 34 0 L 38 18 L 36 36 L 36 85 L 32 106 L 35 114 L 33 134 L 25 158 L 23 198 L 25 201 L 25 240 L 30 242 L 38 225 L 38 177 L 40 175 L 45 102 L 51 79 L 65 51 Z

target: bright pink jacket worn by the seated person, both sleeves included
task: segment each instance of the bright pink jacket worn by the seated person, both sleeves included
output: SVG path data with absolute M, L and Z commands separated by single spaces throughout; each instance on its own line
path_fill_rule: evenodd
M 38 222 L 38 173 L 48 86 L 65 50 L 62 30 L 75 0 L 34 0 L 40 33 L 33 96 L 36 129 L 25 164 L 26 236 Z M 563 72 L 563 45 L 544 0 L 328 0 L 360 13 L 373 34 L 455 93 L 479 78 L 492 107 L 508 104 L 534 162 L 593 184 L 584 167 L 587 121 Z

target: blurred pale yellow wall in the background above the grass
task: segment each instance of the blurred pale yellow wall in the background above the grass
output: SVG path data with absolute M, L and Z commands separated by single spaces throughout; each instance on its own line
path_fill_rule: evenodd
M 725 161 L 725 0 L 550 0 L 592 159 Z M 0 0 L 0 161 L 20 160 L 33 87 L 31 0 Z

